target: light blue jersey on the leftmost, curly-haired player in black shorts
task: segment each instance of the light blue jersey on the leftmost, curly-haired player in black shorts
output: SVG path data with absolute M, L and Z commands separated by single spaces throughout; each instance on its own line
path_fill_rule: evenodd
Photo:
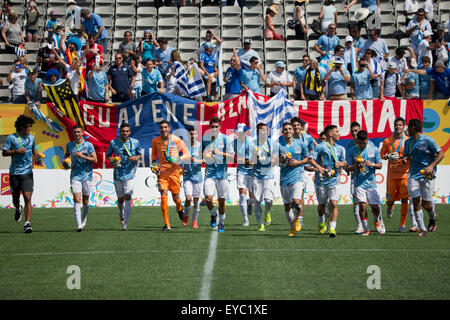
M 25 148 L 27 152 L 24 154 L 14 154 L 11 156 L 11 165 L 9 174 L 30 174 L 33 173 L 33 153 L 36 149 L 34 136 L 29 134 L 21 137 L 18 133 L 13 133 L 6 138 L 3 150 L 17 150 Z

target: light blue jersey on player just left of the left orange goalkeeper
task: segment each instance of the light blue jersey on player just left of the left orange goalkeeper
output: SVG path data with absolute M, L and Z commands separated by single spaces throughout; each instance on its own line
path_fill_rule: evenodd
M 141 155 L 141 144 L 139 140 L 128 138 L 128 141 L 122 143 L 120 138 L 114 139 L 109 143 L 106 155 L 108 157 L 120 156 L 120 167 L 114 168 L 114 180 L 131 180 L 136 174 L 137 161 L 130 161 L 130 157 Z

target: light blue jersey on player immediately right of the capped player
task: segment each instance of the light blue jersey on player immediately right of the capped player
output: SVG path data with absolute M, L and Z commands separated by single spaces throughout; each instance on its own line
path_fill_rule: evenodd
M 271 158 L 273 154 L 278 153 L 277 143 L 267 140 L 259 144 L 258 140 L 252 141 L 250 146 L 251 159 L 255 162 L 253 166 L 253 176 L 258 180 L 270 180 L 274 178 Z M 258 158 L 257 159 L 257 156 Z

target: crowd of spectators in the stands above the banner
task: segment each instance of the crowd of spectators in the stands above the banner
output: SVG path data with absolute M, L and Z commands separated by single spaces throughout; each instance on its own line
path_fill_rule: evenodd
M 309 1 L 293 2 L 293 20 L 289 21 L 289 27 L 295 30 L 296 39 L 306 39 L 305 6 Z M 345 10 L 357 2 L 349 2 Z M 362 9 L 367 10 L 366 18 L 379 13 L 379 2 L 362 1 Z M 238 3 L 245 5 L 245 1 Z M 162 1 L 155 2 L 157 6 L 162 4 Z M 210 1 L 209 4 L 215 5 L 215 2 Z M 234 1 L 227 1 L 227 4 L 234 5 Z M 183 5 L 186 5 L 185 1 Z M 243 90 L 264 93 L 262 84 L 269 88 L 271 96 L 281 89 L 292 88 L 293 97 L 297 100 L 448 98 L 450 39 L 446 26 L 434 20 L 434 5 L 433 0 L 426 1 L 423 7 L 419 7 L 418 1 L 405 1 L 406 36 L 410 45 L 398 47 L 395 56 L 390 56 L 380 30 L 364 23 L 349 25 L 348 35 L 342 42 L 336 35 L 338 15 L 335 1 L 326 0 L 319 16 L 321 30 L 313 48 L 314 55 L 311 51 L 311 56 L 303 55 L 303 65 L 292 75 L 287 71 L 285 61 L 276 62 L 274 70 L 264 70 L 264 61 L 252 49 L 252 39 L 245 38 L 243 48 L 233 49 L 230 66 L 223 70 L 223 98 L 231 98 Z M 135 42 L 132 31 L 125 31 L 124 41 L 113 52 L 114 61 L 105 66 L 105 54 L 112 48 L 108 47 L 102 17 L 80 8 L 75 0 L 68 0 L 67 8 L 64 21 L 58 21 L 56 13 L 51 11 L 50 19 L 44 22 L 36 2 L 30 0 L 24 12 L 26 25 L 22 30 L 11 3 L 4 3 L 1 36 L 6 52 L 17 56 L 6 79 L 11 84 L 13 103 L 39 103 L 42 84 L 59 83 L 62 79 L 68 79 L 74 94 L 80 99 L 93 102 L 120 103 L 153 92 L 178 93 L 172 65 L 173 61 L 182 60 L 167 39 L 156 38 L 148 28 L 144 37 Z M 276 4 L 265 12 L 262 28 L 266 41 L 285 41 L 273 23 L 278 12 Z M 364 14 L 364 11 L 358 11 L 358 14 Z M 27 42 L 40 41 L 40 25 L 45 25 L 48 32 L 47 42 L 38 50 L 37 68 L 30 69 L 26 62 Z M 222 43 L 213 30 L 208 30 L 197 56 L 187 64 L 198 64 L 207 92 L 203 98 L 205 101 L 219 98 L 217 85 L 222 68 L 218 65 L 216 49 Z

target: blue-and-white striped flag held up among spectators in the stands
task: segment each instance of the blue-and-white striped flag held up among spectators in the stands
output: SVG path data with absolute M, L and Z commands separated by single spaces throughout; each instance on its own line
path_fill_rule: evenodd
M 189 74 L 179 61 L 175 61 L 173 67 L 175 69 L 177 86 L 182 95 L 190 98 L 206 96 L 205 84 L 203 83 L 202 75 L 196 63 L 191 66 Z

